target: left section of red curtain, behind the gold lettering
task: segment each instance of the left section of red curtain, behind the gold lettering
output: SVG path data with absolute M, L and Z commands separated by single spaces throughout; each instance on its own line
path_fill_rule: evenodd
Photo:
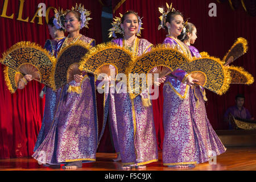
M 2 15 L 3 5 L 6 0 L 0 0 L 0 14 Z M 14 14 L 13 19 L 0 16 L 0 53 L 3 53 L 13 44 L 20 41 L 31 41 L 44 46 L 46 39 L 49 39 L 46 19 L 43 17 L 43 25 L 30 23 L 38 10 L 39 3 L 45 3 L 46 8 L 52 6 L 71 9 L 77 3 L 82 3 L 86 9 L 91 11 L 89 28 L 82 30 L 82 34 L 96 39 L 101 43 L 101 4 L 98 1 L 68 1 L 68 0 L 25 0 L 22 18 L 29 17 L 29 22 L 16 20 L 19 13 L 19 0 L 10 0 L 7 6 L 7 15 Z M 53 10 L 49 18 L 53 15 Z M 0 56 L 2 57 L 2 55 Z M 44 100 L 39 98 L 43 88 L 42 84 L 36 81 L 29 82 L 25 89 L 17 90 L 10 94 L 3 76 L 3 65 L 0 65 L 0 159 L 31 156 L 33 154 L 36 137 L 39 133 L 43 111 Z

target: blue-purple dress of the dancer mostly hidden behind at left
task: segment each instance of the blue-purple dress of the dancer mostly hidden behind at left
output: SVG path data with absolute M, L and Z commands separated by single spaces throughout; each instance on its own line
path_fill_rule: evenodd
M 63 42 L 65 39 L 57 40 L 47 40 L 44 48 L 49 51 L 52 56 L 57 57 L 57 52 L 59 52 Z M 38 134 L 38 138 L 36 140 L 36 144 L 34 147 L 34 152 L 43 142 L 44 138 L 49 132 L 51 128 L 51 123 L 55 114 L 55 102 L 56 102 L 56 92 L 54 92 L 49 86 L 44 86 L 43 88 L 44 94 L 46 94 L 46 101 L 44 105 L 44 116 L 42 125 Z

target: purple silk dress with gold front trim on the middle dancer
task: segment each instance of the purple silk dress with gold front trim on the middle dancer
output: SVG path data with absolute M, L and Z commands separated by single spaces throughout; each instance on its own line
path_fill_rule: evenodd
M 114 39 L 112 42 L 124 46 L 122 38 Z M 133 53 L 135 56 L 140 56 L 150 51 L 151 46 L 152 44 L 147 40 L 136 38 Z M 147 97 L 145 93 L 141 95 Z M 114 94 L 117 119 L 114 127 L 117 128 L 118 149 L 124 166 L 130 164 L 141 166 L 158 161 L 152 106 L 143 106 L 141 95 L 131 100 L 129 94 Z

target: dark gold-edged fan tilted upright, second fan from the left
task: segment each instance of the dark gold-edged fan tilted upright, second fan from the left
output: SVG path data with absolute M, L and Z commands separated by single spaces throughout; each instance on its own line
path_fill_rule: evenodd
M 78 40 L 58 53 L 57 62 L 51 72 L 55 82 L 53 90 L 61 88 L 61 86 L 74 80 L 74 75 L 82 73 L 78 66 L 82 57 L 84 57 L 89 49 L 89 44 Z

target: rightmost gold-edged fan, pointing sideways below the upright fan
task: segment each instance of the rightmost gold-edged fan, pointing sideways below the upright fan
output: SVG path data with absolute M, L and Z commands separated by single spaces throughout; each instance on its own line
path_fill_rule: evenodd
M 254 82 L 254 77 L 250 73 L 246 72 L 241 67 L 228 67 L 230 75 L 232 77 L 231 84 L 246 84 L 250 85 Z

